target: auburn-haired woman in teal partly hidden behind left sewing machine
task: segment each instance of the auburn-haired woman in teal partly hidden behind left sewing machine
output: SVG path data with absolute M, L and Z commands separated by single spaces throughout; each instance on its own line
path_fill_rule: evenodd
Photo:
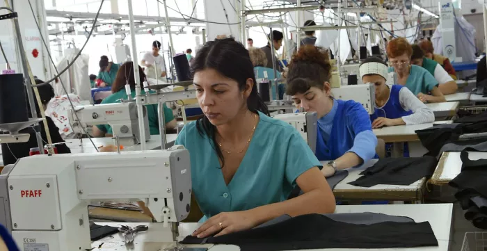
M 143 81 L 145 74 L 142 68 L 138 67 L 138 73 L 140 74 L 141 88 L 143 88 Z M 135 78 L 134 78 L 134 63 L 126 62 L 120 66 L 113 86 L 111 86 L 111 92 L 113 93 L 109 97 L 103 99 L 102 104 L 120 103 L 121 100 L 128 100 L 127 93 L 125 92 L 125 84 L 127 83 L 127 76 L 129 78 L 129 86 L 131 89 L 131 96 L 135 98 Z M 141 90 L 142 94 L 145 94 L 144 90 Z M 159 116 L 157 115 L 157 104 L 150 104 L 145 106 L 147 108 L 147 116 L 149 118 L 149 130 L 151 135 L 159 134 Z M 166 122 L 166 129 L 174 129 L 176 127 L 176 120 L 173 115 L 173 110 L 168 108 L 166 104 L 164 108 L 164 122 Z M 113 131 L 109 124 L 98 124 L 93 126 L 93 137 L 111 136 Z

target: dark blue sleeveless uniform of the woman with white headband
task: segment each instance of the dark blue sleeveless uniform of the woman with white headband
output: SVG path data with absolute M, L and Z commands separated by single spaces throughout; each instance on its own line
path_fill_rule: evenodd
M 399 92 L 401 92 L 402 88 L 406 88 L 405 86 L 400 85 L 392 85 L 390 88 L 390 94 L 388 102 L 385 103 L 382 107 L 375 107 L 374 114 L 370 115 L 370 122 L 374 122 L 377 118 L 402 118 L 404 116 L 408 116 L 413 114 L 413 111 L 406 111 L 401 106 L 401 101 L 399 100 Z M 386 143 L 385 144 L 385 152 L 391 152 L 392 144 Z M 409 156 L 409 146 L 408 143 L 404 143 L 404 156 Z

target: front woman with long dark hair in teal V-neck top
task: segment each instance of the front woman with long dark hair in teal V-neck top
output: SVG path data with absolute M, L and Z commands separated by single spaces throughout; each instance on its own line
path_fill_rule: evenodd
M 196 98 L 205 117 L 176 145 L 191 156 L 193 193 L 205 217 L 194 236 L 250 229 L 278 216 L 333 213 L 319 161 L 294 127 L 268 116 L 244 45 L 210 41 L 196 54 Z M 303 195 L 287 200 L 298 185 Z

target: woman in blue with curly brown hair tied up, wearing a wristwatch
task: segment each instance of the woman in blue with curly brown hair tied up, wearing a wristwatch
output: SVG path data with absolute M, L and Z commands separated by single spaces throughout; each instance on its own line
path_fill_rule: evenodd
M 317 112 L 316 156 L 320 161 L 328 161 L 321 169 L 326 177 L 374 158 L 377 145 L 365 108 L 352 100 L 331 97 L 330 73 L 328 53 L 306 45 L 289 64 L 286 86 L 287 95 L 292 95 L 296 106 Z

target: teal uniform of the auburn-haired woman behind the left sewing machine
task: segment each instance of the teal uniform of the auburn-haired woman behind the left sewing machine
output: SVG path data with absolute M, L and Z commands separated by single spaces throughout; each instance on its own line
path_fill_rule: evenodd
M 144 90 L 141 92 L 145 94 Z M 131 92 L 132 98 L 135 98 L 135 90 Z M 127 100 L 127 94 L 125 93 L 125 89 L 119 90 L 118 92 L 113 93 L 109 97 L 103 99 L 101 104 L 113 104 L 113 103 L 120 103 L 120 99 Z M 163 105 L 164 107 L 164 122 L 167 124 L 174 120 L 173 110 L 168 108 L 166 104 Z M 157 104 L 150 104 L 145 106 L 147 108 L 147 115 L 149 116 L 149 129 L 150 135 L 157 135 L 159 134 L 159 117 L 157 116 Z M 98 129 L 104 131 L 105 133 L 113 134 L 111 127 L 108 124 L 98 124 Z

